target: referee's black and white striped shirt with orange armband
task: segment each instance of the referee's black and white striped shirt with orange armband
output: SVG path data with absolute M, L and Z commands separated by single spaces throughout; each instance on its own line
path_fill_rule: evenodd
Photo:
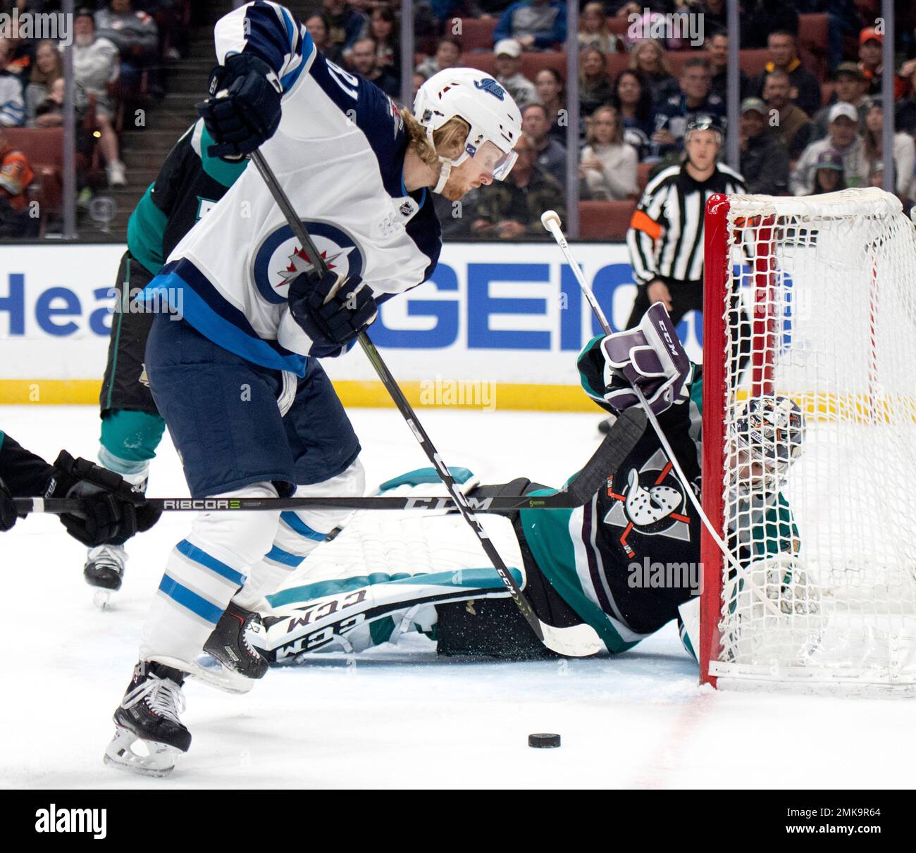
M 638 285 L 648 285 L 656 278 L 703 278 L 704 212 L 706 200 L 716 192 L 747 192 L 744 178 L 720 163 L 702 182 L 687 174 L 686 165 L 662 169 L 649 181 L 627 232 Z

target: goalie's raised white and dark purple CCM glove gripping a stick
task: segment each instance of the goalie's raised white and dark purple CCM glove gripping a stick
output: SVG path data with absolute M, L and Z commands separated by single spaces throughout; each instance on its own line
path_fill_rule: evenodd
M 688 398 L 692 364 L 660 302 L 646 311 L 636 329 L 607 335 L 601 351 L 605 401 L 618 414 L 639 405 L 634 386 L 656 415 Z

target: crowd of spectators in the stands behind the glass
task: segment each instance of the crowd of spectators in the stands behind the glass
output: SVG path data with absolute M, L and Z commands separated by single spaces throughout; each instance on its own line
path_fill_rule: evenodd
M 184 49 L 180 21 L 189 4 L 98 0 L 79 14 L 78 153 L 100 163 L 112 186 L 125 181 L 120 111 L 125 101 L 163 92 L 161 69 L 165 58 Z M 43 11 L 60 4 L 0 3 L 11 5 Z M 752 191 L 805 195 L 830 186 L 878 185 L 885 73 L 879 5 L 741 0 L 740 170 Z M 524 115 L 523 156 L 507 186 L 478 190 L 458 212 L 436 200 L 457 220 L 447 224 L 447 235 L 540 236 L 531 224 L 534 200 L 543 202 L 540 210 L 562 207 L 570 157 L 578 164 L 582 200 L 634 203 L 652 174 L 682 157 L 692 114 L 725 120 L 725 0 L 580 2 L 579 80 L 572 88 L 566 80 L 567 7 L 558 0 L 415 0 L 412 91 L 439 70 L 471 65 L 490 71 Z M 328 59 L 402 103 L 400 3 L 313 0 L 295 8 Z M 660 16 L 671 23 L 699 15 L 701 38 L 691 38 L 689 27 L 656 26 Z M 893 70 L 893 156 L 896 191 L 908 206 L 916 194 L 914 24 L 916 8 L 902 8 Z M 671 38 L 659 38 L 660 32 Z M 56 45 L 0 38 L 0 125 L 60 124 L 60 78 Z M 577 93 L 580 115 L 572 136 L 570 92 Z M 0 188 L 0 194 L 6 191 Z M 507 218 L 500 219 L 504 213 Z M 514 224 L 503 228 L 502 222 Z

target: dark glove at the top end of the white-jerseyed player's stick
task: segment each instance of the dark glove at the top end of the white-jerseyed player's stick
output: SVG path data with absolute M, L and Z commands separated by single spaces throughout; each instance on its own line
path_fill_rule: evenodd
M 263 59 L 250 53 L 227 57 L 211 72 L 209 91 L 197 112 L 213 136 L 210 157 L 243 157 L 276 132 L 282 88 Z

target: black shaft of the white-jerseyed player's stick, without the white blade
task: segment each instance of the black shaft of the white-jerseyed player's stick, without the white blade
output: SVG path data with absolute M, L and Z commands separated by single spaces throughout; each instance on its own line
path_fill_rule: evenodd
M 264 182 L 267 184 L 267 189 L 270 190 L 270 194 L 277 202 L 277 206 L 280 211 L 282 211 L 283 216 L 286 218 L 287 224 L 289 224 L 289 228 L 292 230 L 293 234 L 295 234 L 297 240 L 299 240 L 303 246 L 308 247 L 309 252 L 311 253 L 312 265 L 314 265 L 315 269 L 319 270 L 322 275 L 325 275 L 327 273 L 327 265 L 324 263 L 324 259 L 322 258 L 321 253 L 312 242 L 311 237 L 309 236 L 309 232 L 302 224 L 299 215 L 296 213 L 296 211 L 293 210 L 292 205 L 289 203 L 289 199 L 287 198 L 286 193 L 283 191 L 283 188 L 279 185 L 278 180 L 273 173 L 273 169 L 271 169 L 267 163 L 267 160 L 264 159 L 264 156 L 260 151 L 253 151 L 251 153 L 251 159 L 254 162 L 257 171 L 261 174 L 261 177 L 264 178 Z M 506 564 L 503 562 L 502 557 L 499 556 L 496 548 L 490 541 L 490 538 L 486 534 L 483 525 L 468 506 L 462 492 L 459 491 L 458 485 L 455 482 L 451 472 L 442 461 L 442 458 L 439 455 L 439 451 L 436 450 L 436 448 L 433 446 L 429 435 L 427 435 L 426 430 L 423 428 L 422 424 L 420 424 L 420 421 L 414 413 L 413 407 L 409 404 L 407 397 L 404 396 L 403 392 L 398 386 L 398 383 L 395 382 L 394 377 L 388 370 L 387 364 L 382 360 L 378 350 L 376 350 L 375 344 L 369 340 L 369 336 L 366 335 L 365 331 L 360 332 L 357 340 L 359 340 L 359 344 L 368 357 L 369 362 L 371 362 L 372 366 L 376 369 L 378 378 L 382 381 L 382 384 L 385 385 L 388 394 L 391 395 L 391 399 L 398 407 L 398 411 L 400 412 L 401 416 L 407 421 L 407 424 L 410 427 L 410 431 L 414 434 L 414 437 L 417 438 L 417 441 L 420 443 L 420 447 L 423 448 L 423 452 L 426 454 L 427 458 L 431 461 L 433 467 L 438 472 L 442 482 L 445 483 L 445 488 L 449 491 L 449 494 L 451 495 L 455 506 L 458 508 L 458 511 L 462 513 L 464 521 L 467 522 L 468 526 L 471 527 L 471 529 L 474 531 L 474 534 L 477 536 L 477 539 L 480 541 L 480 545 L 483 547 L 486 556 L 490 562 L 493 563 L 493 567 L 496 568 L 496 574 L 499 575 L 499 578 L 506 585 L 506 588 L 512 595 L 512 599 L 518 605 L 518 610 L 521 610 L 522 615 L 525 617 L 525 620 L 528 621 L 529 625 L 531 626 L 531 630 L 535 632 L 535 635 L 538 637 L 538 639 L 541 642 L 544 642 L 544 632 L 541 628 L 540 619 L 538 619 L 538 617 L 535 615 L 534 610 L 531 609 L 529 600 L 522 593 L 521 588 L 515 581 L 515 578 L 512 577 L 508 568 L 506 567 Z

